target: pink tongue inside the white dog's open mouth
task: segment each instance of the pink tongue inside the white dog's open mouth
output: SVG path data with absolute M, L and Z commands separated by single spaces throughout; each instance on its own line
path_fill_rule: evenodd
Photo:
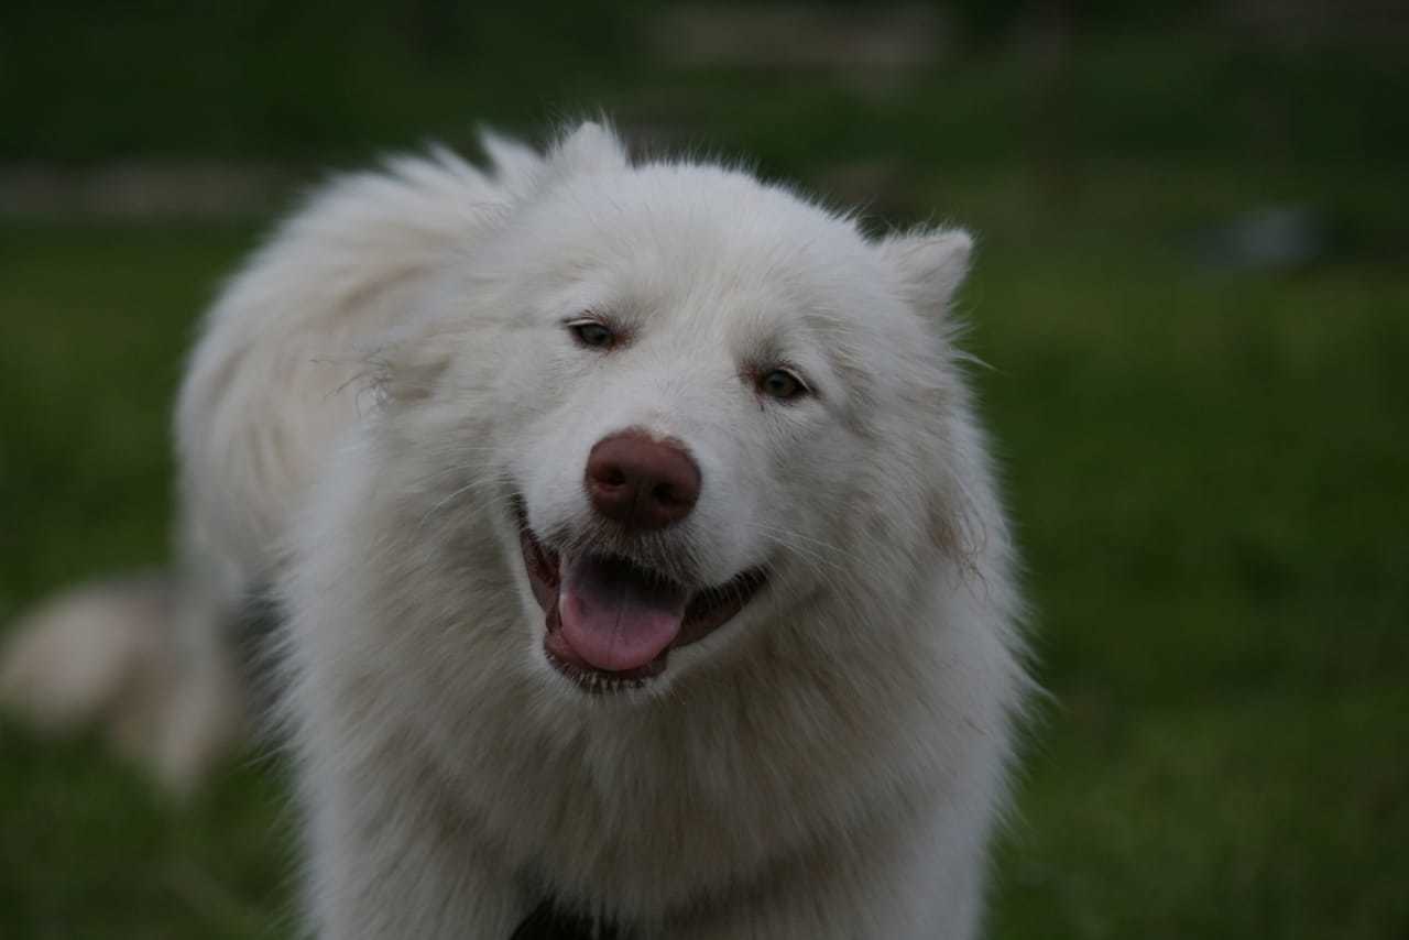
M 685 592 L 631 565 L 582 555 L 562 559 L 562 637 L 589 665 L 626 672 L 650 664 L 681 631 Z

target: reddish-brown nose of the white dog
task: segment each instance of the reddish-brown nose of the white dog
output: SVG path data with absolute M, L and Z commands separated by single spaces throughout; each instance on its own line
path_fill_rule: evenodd
M 627 528 L 665 528 L 690 514 L 700 497 L 700 469 L 679 444 L 621 431 L 588 455 L 592 506 Z

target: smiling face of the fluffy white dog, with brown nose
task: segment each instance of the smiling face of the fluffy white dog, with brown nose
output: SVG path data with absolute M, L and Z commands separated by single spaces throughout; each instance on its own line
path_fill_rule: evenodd
M 947 366 L 919 307 L 968 249 L 876 245 L 738 173 L 603 162 L 504 223 L 475 268 L 496 348 L 455 366 L 492 389 L 535 655 L 588 692 L 664 688 L 782 599 L 882 564 L 851 528 L 927 469 L 903 424 L 941 407 Z

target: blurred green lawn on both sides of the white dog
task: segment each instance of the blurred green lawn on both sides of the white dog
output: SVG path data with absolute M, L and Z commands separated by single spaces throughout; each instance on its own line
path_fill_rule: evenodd
M 999 189 L 951 202 L 991 233 L 964 307 L 1054 699 L 996 936 L 1402 936 L 1409 278 L 1206 272 L 1169 213 L 1013 225 Z M 182 348 L 252 241 L 3 233 L 0 614 L 162 558 Z M 0 754 L 0 934 L 280 934 L 276 775 L 176 810 L 92 743 Z

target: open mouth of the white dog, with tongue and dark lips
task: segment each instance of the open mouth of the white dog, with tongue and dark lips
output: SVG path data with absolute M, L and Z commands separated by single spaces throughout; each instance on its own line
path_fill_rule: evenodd
M 589 692 L 640 688 L 665 671 L 671 650 L 727 623 L 766 582 L 761 569 L 690 590 L 628 558 L 545 548 L 514 505 L 524 569 L 547 630 L 548 662 Z

